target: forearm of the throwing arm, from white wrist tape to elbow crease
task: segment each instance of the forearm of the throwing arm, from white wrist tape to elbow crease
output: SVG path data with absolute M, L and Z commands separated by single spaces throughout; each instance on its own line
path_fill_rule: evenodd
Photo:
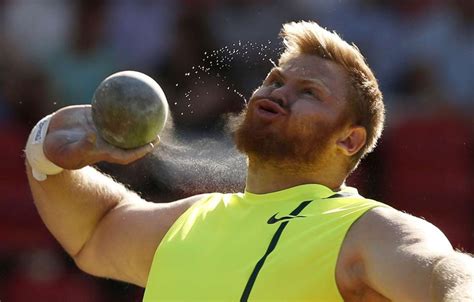
M 92 167 L 65 170 L 38 182 L 27 163 L 27 175 L 41 218 L 73 257 L 91 238 L 101 219 L 134 194 Z

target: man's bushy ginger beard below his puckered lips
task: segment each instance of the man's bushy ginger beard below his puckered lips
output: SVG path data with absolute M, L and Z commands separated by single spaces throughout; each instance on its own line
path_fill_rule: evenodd
M 245 109 L 234 125 L 237 149 L 250 160 L 276 167 L 311 169 L 329 156 L 332 137 L 344 125 L 341 116 L 334 124 L 289 114 L 278 125 L 260 121 L 253 108 Z

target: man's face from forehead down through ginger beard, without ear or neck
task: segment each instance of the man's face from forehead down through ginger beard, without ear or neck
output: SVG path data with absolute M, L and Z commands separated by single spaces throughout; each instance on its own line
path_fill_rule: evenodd
M 311 55 L 273 68 L 243 113 L 237 148 L 260 161 L 315 163 L 347 123 L 347 78 L 341 66 Z

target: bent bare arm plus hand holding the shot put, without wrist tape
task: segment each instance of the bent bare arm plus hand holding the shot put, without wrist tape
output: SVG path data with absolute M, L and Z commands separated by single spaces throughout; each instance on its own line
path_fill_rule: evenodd
M 152 144 L 132 150 L 109 145 L 97 135 L 90 106 L 59 110 L 47 130 L 42 150 L 66 170 L 37 181 L 27 160 L 44 223 L 81 269 L 145 286 L 156 247 L 200 196 L 170 204 L 147 202 L 90 167 L 99 161 L 127 164 L 153 149 Z

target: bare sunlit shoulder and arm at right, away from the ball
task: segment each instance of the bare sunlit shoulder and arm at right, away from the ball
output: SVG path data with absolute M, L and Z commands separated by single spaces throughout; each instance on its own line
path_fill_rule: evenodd
M 376 208 L 348 233 L 359 287 L 391 301 L 473 301 L 474 261 L 432 224 Z M 346 248 L 348 247 L 346 246 Z M 354 282 L 357 283 L 357 282 Z

